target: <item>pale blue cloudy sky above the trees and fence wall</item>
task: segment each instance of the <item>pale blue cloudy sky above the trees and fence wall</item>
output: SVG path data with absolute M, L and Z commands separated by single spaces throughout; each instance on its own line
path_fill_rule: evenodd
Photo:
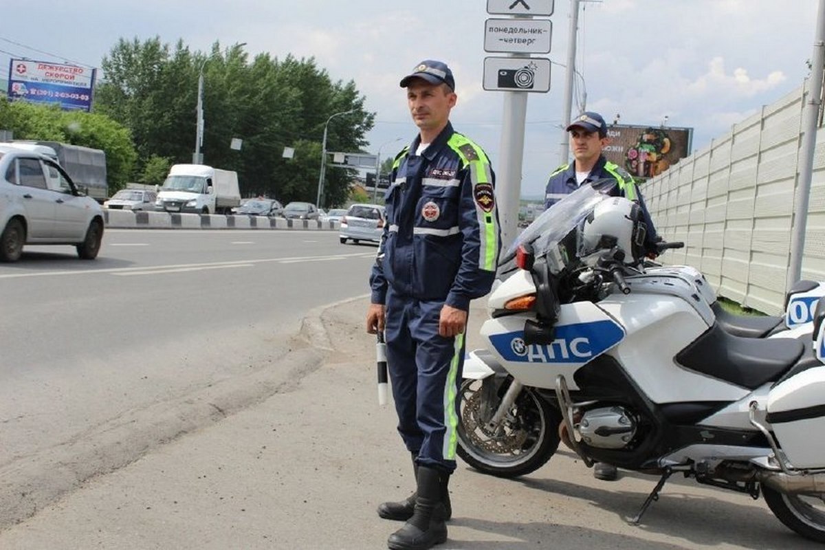
M 525 0 L 529 5 L 535 0 Z M 450 120 L 501 157 L 502 92 L 483 90 L 485 0 L 40 0 L 3 2 L 0 68 L 12 57 L 99 67 L 120 38 L 159 36 L 209 51 L 246 43 L 250 59 L 314 57 L 334 81 L 356 82 L 375 112 L 369 153 L 394 155 L 412 141 L 398 81 L 422 59 L 450 65 L 458 103 Z M 572 2 L 555 0 L 548 93 L 527 100 L 521 195 L 542 195 L 562 163 L 563 95 Z M 610 123 L 693 129 L 693 150 L 794 92 L 813 54 L 815 0 L 603 0 L 581 2 L 572 116 L 596 110 Z M 36 21 L 36 23 L 34 23 Z M 583 85 L 582 85 L 583 80 Z M 181 86 L 196 82 L 181 82 Z M 193 119 L 194 119 L 193 106 Z M 208 124 L 208 114 L 206 115 Z M 337 124 L 333 120 L 331 124 Z M 320 136 L 318 136 L 320 139 Z M 512 184 L 512 182 L 510 182 Z

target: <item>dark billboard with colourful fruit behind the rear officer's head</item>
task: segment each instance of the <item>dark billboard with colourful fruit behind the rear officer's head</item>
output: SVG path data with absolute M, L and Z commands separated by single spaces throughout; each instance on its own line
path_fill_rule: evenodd
M 612 125 L 607 128 L 607 137 L 610 143 L 603 149 L 607 160 L 631 176 L 647 178 L 658 176 L 691 154 L 693 129 Z

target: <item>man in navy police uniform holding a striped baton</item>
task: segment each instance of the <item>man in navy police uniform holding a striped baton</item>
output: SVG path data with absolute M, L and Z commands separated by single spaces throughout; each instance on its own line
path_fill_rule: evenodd
M 378 513 L 407 522 L 389 548 L 415 550 L 447 538 L 469 303 L 493 284 L 501 237 L 488 157 L 450 125 L 452 71 L 427 59 L 400 85 L 419 134 L 393 164 L 366 328 L 385 331 L 398 433 L 417 482 Z

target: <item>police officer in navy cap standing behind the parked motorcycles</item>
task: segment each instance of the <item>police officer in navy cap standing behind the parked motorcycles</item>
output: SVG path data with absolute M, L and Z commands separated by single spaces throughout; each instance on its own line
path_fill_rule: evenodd
M 611 195 L 623 196 L 639 203 L 642 207 L 643 222 L 647 225 L 644 249 L 648 256 L 655 257 L 658 237 L 642 194 L 636 188 L 633 177 L 613 162 L 608 161 L 601 153 L 602 148 L 610 141 L 607 138 L 605 120 L 598 113 L 587 111 L 578 115 L 568 125 L 566 131 L 570 133 L 570 146 L 573 148 L 575 161 L 573 164 L 565 164 L 556 168 L 556 171 L 550 174 L 544 192 L 544 209 L 548 209 L 585 183 L 602 179 L 613 180 L 616 185 L 610 190 Z M 612 464 L 599 462 L 593 467 L 593 477 L 612 482 L 618 477 L 618 472 Z

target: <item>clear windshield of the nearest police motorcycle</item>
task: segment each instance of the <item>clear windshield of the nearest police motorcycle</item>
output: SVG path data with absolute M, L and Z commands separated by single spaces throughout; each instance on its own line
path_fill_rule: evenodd
M 615 188 L 615 180 L 596 180 L 574 190 L 559 200 L 530 223 L 512 242 L 507 253 L 502 257 L 501 265 L 516 257 L 516 250 L 521 244 L 533 247 L 535 256 L 544 256 L 551 247 L 578 227 L 587 214 Z

